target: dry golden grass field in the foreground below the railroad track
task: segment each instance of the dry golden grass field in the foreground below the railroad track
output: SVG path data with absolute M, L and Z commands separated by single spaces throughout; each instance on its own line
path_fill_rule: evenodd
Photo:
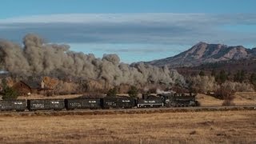
M 255 143 L 256 111 L 0 117 L 0 143 Z

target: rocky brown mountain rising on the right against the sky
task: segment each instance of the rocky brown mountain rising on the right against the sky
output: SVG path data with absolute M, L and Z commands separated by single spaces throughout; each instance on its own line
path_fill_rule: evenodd
M 154 66 L 199 66 L 209 62 L 222 62 L 228 60 L 238 60 L 241 58 L 251 58 L 256 56 L 256 48 L 246 49 L 243 46 L 226 46 L 222 44 L 208 44 L 198 42 L 189 50 L 175 55 L 174 57 L 163 58 L 146 62 Z

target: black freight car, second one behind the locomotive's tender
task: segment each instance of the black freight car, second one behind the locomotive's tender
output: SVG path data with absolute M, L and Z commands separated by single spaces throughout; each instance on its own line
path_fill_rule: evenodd
M 70 98 L 65 99 L 66 110 L 74 109 L 99 109 L 101 108 L 100 98 Z

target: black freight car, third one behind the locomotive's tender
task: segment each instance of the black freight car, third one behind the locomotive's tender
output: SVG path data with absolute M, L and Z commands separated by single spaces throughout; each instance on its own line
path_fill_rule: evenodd
M 30 99 L 27 100 L 28 110 L 62 110 L 65 109 L 64 99 Z

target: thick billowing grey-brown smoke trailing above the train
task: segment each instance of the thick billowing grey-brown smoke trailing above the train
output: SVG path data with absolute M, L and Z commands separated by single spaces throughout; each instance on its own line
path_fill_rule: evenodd
M 104 54 L 103 58 L 95 58 L 94 54 L 71 51 L 67 45 L 48 44 L 35 34 L 27 34 L 23 44 L 22 47 L 6 40 L 0 41 L 2 70 L 25 77 L 49 75 L 104 80 L 114 86 L 183 82 L 176 70 L 167 67 L 148 66 L 142 62 L 132 65 L 120 63 L 117 54 Z

